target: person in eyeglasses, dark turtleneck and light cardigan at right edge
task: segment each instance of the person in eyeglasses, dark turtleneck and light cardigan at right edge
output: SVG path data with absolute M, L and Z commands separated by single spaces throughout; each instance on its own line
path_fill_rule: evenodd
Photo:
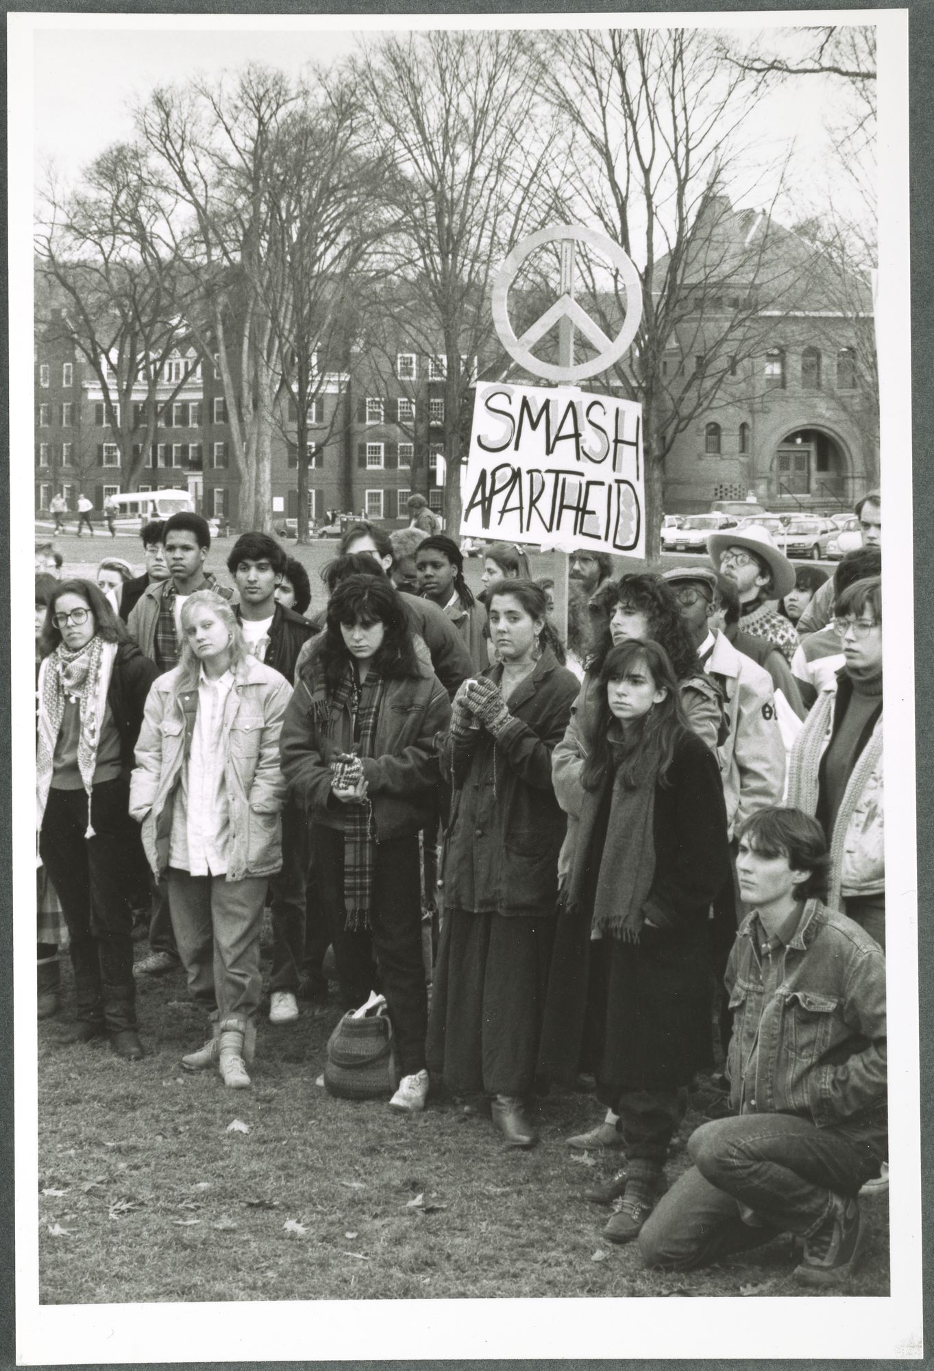
M 837 598 L 845 665 L 820 691 L 792 750 L 787 803 L 813 814 L 830 843 L 827 905 L 885 949 L 882 788 L 882 579 Z

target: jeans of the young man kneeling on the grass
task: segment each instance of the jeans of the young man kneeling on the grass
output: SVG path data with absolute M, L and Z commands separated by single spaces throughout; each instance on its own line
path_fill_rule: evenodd
M 640 1234 L 645 1264 L 687 1270 L 779 1233 L 809 1237 L 827 1216 L 831 1194 L 855 1196 L 878 1174 L 886 1139 L 885 1126 L 818 1128 L 796 1115 L 701 1124 L 687 1142 L 694 1165 Z

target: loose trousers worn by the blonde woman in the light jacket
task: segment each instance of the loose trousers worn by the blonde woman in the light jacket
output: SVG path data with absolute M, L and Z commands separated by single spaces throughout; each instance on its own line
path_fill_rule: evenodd
M 266 876 L 192 876 L 168 868 L 168 905 L 188 988 L 210 1012 L 247 1024 L 259 1009 Z

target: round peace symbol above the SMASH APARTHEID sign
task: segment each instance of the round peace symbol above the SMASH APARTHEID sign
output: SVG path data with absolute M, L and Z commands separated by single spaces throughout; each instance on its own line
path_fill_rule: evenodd
M 559 241 L 561 244 L 561 293 L 549 310 L 540 319 L 526 329 L 522 337 L 516 337 L 509 324 L 507 298 L 516 271 L 526 258 L 542 247 L 545 243 Z M 623 278 L 626 287 L 626 315 L 623 326 L 615 339 L 608 339 L 604 330 L 590 315 L 581 308 L 574 299 L 574 244 L 575 241 L 589 243 L 590 247 L 609 258 Z M 607 372 L 614 362 L 618 362 L 626 348 L 635 337 L 635 330 L 642 318 L 642 288 L 638 273 L 627 255 L 614 243 L 612 239 L 588 229 L 582 223 L 556 223 L 551 229 L 540 229 L 530 233 L 527 239 L 518 243 L 508 258 L 496 273 L 493 281 L 493 324 L 500 336 L 503 347 L 511 358 L 525 366 L 533 376 L 541 376 L 545 381 L 585 381 L 600 372 Z M 559 325 L 561 366 L 552 362 L 540 362 L 533 355 L 531 348 L 540 339 Z M 598 350 L 598 355 L 590 362 L 574 365 L 574 330 L 578 329 L 589 343 Z

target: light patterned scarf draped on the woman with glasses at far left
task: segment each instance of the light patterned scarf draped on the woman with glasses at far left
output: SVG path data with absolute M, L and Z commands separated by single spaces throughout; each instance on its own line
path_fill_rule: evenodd
M 97 633 L 89 643 L 71 653 L 59 643 L 42 662 L 38 673 L 38 744 L 36 749 L 36 831 L 42 827 L 42 814 L 52 787 L 55 744 L 64 718 L 64 696 L 78 701 L 81 733 L 78 738 L 78 771 L 88 792 L 88 828 L 85 838 L 93 838 L 90 823 L 90 790 L 94 783 L 97 746 L 107 709 L 107 691 L 116 658 L 116 643 L 104 643 Z

